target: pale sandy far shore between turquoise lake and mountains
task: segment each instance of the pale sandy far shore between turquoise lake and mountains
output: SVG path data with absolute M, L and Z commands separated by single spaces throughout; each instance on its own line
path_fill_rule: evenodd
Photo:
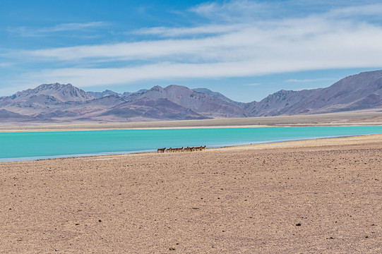
M 266 116 L 237 119 L 184 121 L 146 121 L 131 123 L 1 123 L 0 132 L 9 131 L 85 131 L 150 128 L 237 128 L 263 126 L 362 126 L 382 125 L 382 111 L 350 111 L 331 114 Z

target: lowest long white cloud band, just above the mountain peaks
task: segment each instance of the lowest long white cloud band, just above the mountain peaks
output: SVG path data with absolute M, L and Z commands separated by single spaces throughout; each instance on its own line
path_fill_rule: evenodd
M 382 55 L 381 55 L 382 56 Z M 27 73 L 24 79 L 38 83 L 72 83 L 79 87 L 96 85 L 129 84 L 142 80 L 169 80 L 174 78 L 230 78 L 270 73 L 308 71 L 313 69 L 337 68 L 338 62 L 327 64 L 319 61 L 299 61 L 291 65 L 287 59 L 258 61 L 237 61 L 221 63 L 155 63 L 124 68 L 58 68 L 39 73 Z M 344 68 L 356 68 L 359 63 L 352 61 L 342 64 Z M 374 63 L 365 63 L 373 67 Z M 254 84 L 252 84 L 254 85 Z

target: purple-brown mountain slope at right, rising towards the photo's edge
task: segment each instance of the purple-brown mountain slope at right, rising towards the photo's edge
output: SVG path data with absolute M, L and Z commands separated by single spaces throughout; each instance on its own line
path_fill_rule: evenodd
M 251 116 L 321 114 L 382 107 L 382 71 L 351 75 L 330 87 L 280 90 L 260 102 L 243 105 Z

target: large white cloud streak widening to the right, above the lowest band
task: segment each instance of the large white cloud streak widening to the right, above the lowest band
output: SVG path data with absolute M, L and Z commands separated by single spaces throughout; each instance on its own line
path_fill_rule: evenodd
M 243 28 L 201 39 L 171 39 L 146 42 L 64 47 L 22 52 L 48 61 L 172 61 L 174 63 L 219 63 L 225 61 L 290 61 L 299 69 L 304 62 L 323 68 L 347 62 L 382 65 L 382 28 L 349 22 L 331 23 L 318 18 L 268 23 L 267 28 Z M 378 57 L 379 56 L 379 57 Z M 272 67 L 270 67 L 272 68 Z M 274 69 L 278 72 L 277 69 Z

